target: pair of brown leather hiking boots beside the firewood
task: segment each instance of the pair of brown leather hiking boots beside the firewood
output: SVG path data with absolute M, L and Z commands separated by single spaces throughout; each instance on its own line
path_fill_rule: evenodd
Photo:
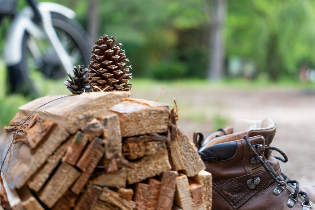
M 277 159 L 288 159 L 269 146 L 275 132 L 276 125 L 268 118 L 238 120 L 203 141 L 195 138 L 206 171 L 213 176 L 213 209 L 314 209 L 310 198 L 314 201 L 315 188 L 300 188 L 281 173 Z M 272 150 L 284 159 L 273 157 Z

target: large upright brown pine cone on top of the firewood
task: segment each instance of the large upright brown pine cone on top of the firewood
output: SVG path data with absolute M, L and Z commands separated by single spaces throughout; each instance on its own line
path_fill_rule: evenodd
M 129 62 L 126 58 L 125 51 L 120 49 L 123 45 L 118 43 L 114 45 L 116 37 L 105 34 L 95 42 L 93 50 L 94 55 L 91 56 L 92 61 L 89 65 L 88 81 L 93 91 L 113 91 L 128 90 L 132 85 L 128 84 L 132 79 L 129 72 L 130 66 L 126 66 Z

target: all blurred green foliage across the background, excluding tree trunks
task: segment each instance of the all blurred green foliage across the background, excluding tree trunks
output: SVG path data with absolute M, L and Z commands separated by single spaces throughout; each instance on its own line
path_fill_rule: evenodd
M 87 29 L 89 1 L 51 0 L 77 13 Z M 254 64 L 269 79 L 298 78 L 302 64 L 315 68 L 315 3 L 312 0 L 228 0 L 226 60 Z M 124 44 L 135 77 L 205 78 L 212 0 L 99 0 L 99 33 Z M 18 8 L 26 6 L 19 1 Z M 4 28 L 9 25 L 4 22 Z M 0 33 L 3 45 L 4 32 Z M 97 37 L 92 37 L 97 39 Z M 256 74 L 256 75 L 259 75 Z

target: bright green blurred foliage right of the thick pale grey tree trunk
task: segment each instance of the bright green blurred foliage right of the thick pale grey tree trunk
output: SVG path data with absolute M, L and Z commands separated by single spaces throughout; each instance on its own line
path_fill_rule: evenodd
M 314 2 L 229 1 L 227 57 L 255 62 L 270 79 L 297 78 L 301 64 L 314 68 Z

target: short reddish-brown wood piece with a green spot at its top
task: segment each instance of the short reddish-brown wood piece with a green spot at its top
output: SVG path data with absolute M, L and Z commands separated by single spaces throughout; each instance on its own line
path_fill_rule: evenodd
M 62 158 L 62 162 L 67 162 L 70 165 L 76 165 L 78 159 L 83 152 L 84 147 L 88 141 L 93 138 L 91 134 L 85 134 L 81 131 L 78 131 L 71 139 L 70 145 L 67 148 L 66 154 Z

